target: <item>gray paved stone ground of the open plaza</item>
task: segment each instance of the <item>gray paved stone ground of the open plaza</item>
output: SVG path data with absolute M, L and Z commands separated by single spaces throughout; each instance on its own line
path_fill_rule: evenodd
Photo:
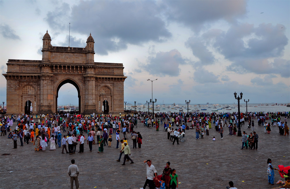
M 227 129 L 223 139 L 218 132 L 210 129 L 210 136 L 199 140 L 195 140 L 195 130 L 186 130 L 187 140 L 180 145 L 172 145 L 162 129 L 156 132 L 155 128 L 148 129 L 143 127 L 143 123 L 138 123 L 135 130 L 141 132 L 143 145 L 141 149 L 133 149 L 133 142 L 128 140 L 135 163 L 127 162 L 125 166 L 116 161 L 119 150 L 115 148 L 115 140 L 112 147 L 105 146 L 101 154 L 97 153 L 97 145 L 93 145 L 93 152 L 89 152 L 85 143 L 85 153 L 69 155 L 61 154 L 61 148 L 35 152 L 32 143 L 19 147 L 19 140 L 18 148 L 12 149 L 12 140 L 0 136 L 0 153 L 10 153 L 0 156 L 0 188 L 69 188 L 67 169 L 70 159 L 75 159 L 79 167 L 81 189 L 142 187 L 146 179 L 146 165 L 142 161 L 146 159 L 152 160 L 158 175 L 170 161 L 181 182 L 178 188 L 225 188 L 229 181 L 233 181 L 239 189 L 274 188 L 280 185 L 269 186 L 267 159 L 272 159 L 275 168 L 289 165 L 290 137 L 280 136 L 277 126 L 271 127 L 271 134 L 265 134 L 264 127 L 255 127 L 259 134 L 258 150 L 240 150 L 241 137 L 229 136 Z M 242 131 L 251 132 L 246 126 L 242 127 Z M 212 141 L 213 136 L 216 141 Z M 78 148 L 79 145 L 77 151 Z M 280 175 L 277 171 L 275 174 L 277 182 Z

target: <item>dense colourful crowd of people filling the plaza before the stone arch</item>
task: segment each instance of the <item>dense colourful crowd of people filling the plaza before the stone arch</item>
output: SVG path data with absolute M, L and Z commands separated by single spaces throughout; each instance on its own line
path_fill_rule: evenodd
M 64 150 L 68 154 L 75 154 L 77 151 L 77 145 L 79 145 L 78 153 L 84 153 L 84 143 L 87 141 L 88 150 L 92 152 L 93 145 L 98 145 L 98 153 L 104 152 L 104 146 L 111 147 L 114 142 L 113 138 L 116 137 L 116 148 L 120 149 L 118 162 L 121 161 L 122 154 L 124 154 L 123 163 L 125 165 L 127 161 L 134 161 L 131 159 L 131 150 L 128 145 L 128 139 L 133 141 L 133 149 L 141 148 L 142 135 L 137 132 L 137 123 L 143 122 L 144 127 L 154 127 L 158 131 L 161 126 L 163 130 L 167 132 L 167 139 L 179 144 L 179 138 L 185 137 L 186 130 L 195 130 L 195 139 L 203 139 L 209 136 L 209 129 L 214 125 L 214 129 L 221 135 L 221 139 L 224 138 L 224 132 L 229 129 L 229 135 L 236 135 L 238 123 L 240 126 L 248 125 L 248 129 L 252 129 L 253 132 L 248 135 L 245 131 L 242 135 L 242 148 L 246 149 L 258 149 L 258 134 L 255 132 L 255 124 L 265 127 L 265 133 L 270 134 L 271 127 L 276 123 L 279 127 L 280 135 L 289 135 L 289 127 L 287 126 L 287 117 L 289 118 L 289 112 L 249 112 L 248 114 L 240 114 L 240 122 L 238 120 L 238 113 L 206 113 L 206 112 L 190 112 L 189 115 L 183 112 L 179 113 L 166 113 L 160 112 L 152 114 L 151 112 L 128 113 L 124 116 L 119 114 L 113 116 L 112 114 L 103 115 L 92 113 L 90 116 L 82 114 L 49 114 L 41 116 L 32 115 L 15 115 L 0 116 L 0 128 L 1 136 L 12 138 L 14 141 L 14 148 L 17 148 L 17 139 L 20 140 L 20 146 L 33 143 L 35 151 L 46 151 L 48 143 L 50 142 L 49 150 L 56 150 L 56 147 L 61 148 L 61 153 L 65 154 Z M 255 121 L 254 121 L 255 120 Z M 267 120 L 268 123 L 267 123 Z M 271 123 L 270 124 L 270 120 Z M 15 129 L 11 131 L 13 125 Z M 139 124 L 140 125 L 140 124 Z M 138 125 L 138 126 L 139 126 Z M 139 126 L 140 127 L 140 126 Z M 246 129 L 246 128 L 245 128 Z M 120 133 L 122 133 L 120 136 Z M 215 140 L 215 134 L 213 140 Z M 122 139 L 121 139 L 122 138 Z M 121 143 L 121 148 L 119 147 Z M 137 147 L 138 144 L 138 147 Z M 68 147 L 68 149 L 67 149 Z M 151 168 L 151 161 L 146 160 L 147 169 Z M 149 165 L 150 164 L 150 165 Z M 153 169 L 154 168 L 154 169 Z M 147 170 L 148 172 L 148 170 Z M 170 162 L 166 163 L 163 174 L 160 176 L 152 175 L 146 179 L 146 185 L 149 184 L 149 188 L 152 188 L 152 183 L 155 186 L 165 188 L 178 187 L 177 174 L 175 170 L 171 170 Z M 151 179 L 151 177 L 153 177 Z M 148 180 L 148 181 L 147 181 Z

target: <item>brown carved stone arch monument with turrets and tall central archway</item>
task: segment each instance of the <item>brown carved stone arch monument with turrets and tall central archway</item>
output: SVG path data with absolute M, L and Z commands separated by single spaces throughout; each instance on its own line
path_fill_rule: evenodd
M 28 102 L 34 114 L 57 112 L 60 87 L 73 84 L 78 91 L 79 112 L 124 112 L 123 64 L 94 62 L 94 39 L 85 48 L 51 46 L 43 37 L 42 60 L 13 60 L 7 63 L 7 114 L 24 113 Z

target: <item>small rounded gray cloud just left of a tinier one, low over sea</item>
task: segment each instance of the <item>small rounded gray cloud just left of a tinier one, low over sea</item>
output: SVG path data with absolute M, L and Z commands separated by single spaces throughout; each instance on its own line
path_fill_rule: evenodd
M 198 68 L 194 74 L 193 79 L 198 83 L 217 83 L 220 82 L 218 76 L 213 72 L 209 72 L 203 68 Z

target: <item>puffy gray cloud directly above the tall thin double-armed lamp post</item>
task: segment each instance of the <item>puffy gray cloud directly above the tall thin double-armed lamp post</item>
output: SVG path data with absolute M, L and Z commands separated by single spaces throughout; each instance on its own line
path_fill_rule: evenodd
M 148 64 L 143 67 L 151 75 L 158 76 L 178 76 L 180 74 L 180 64 L 186 64 L 179 51 L 173 49 L 169 52 L 159 52 L 156 56 L 148 57 Z

